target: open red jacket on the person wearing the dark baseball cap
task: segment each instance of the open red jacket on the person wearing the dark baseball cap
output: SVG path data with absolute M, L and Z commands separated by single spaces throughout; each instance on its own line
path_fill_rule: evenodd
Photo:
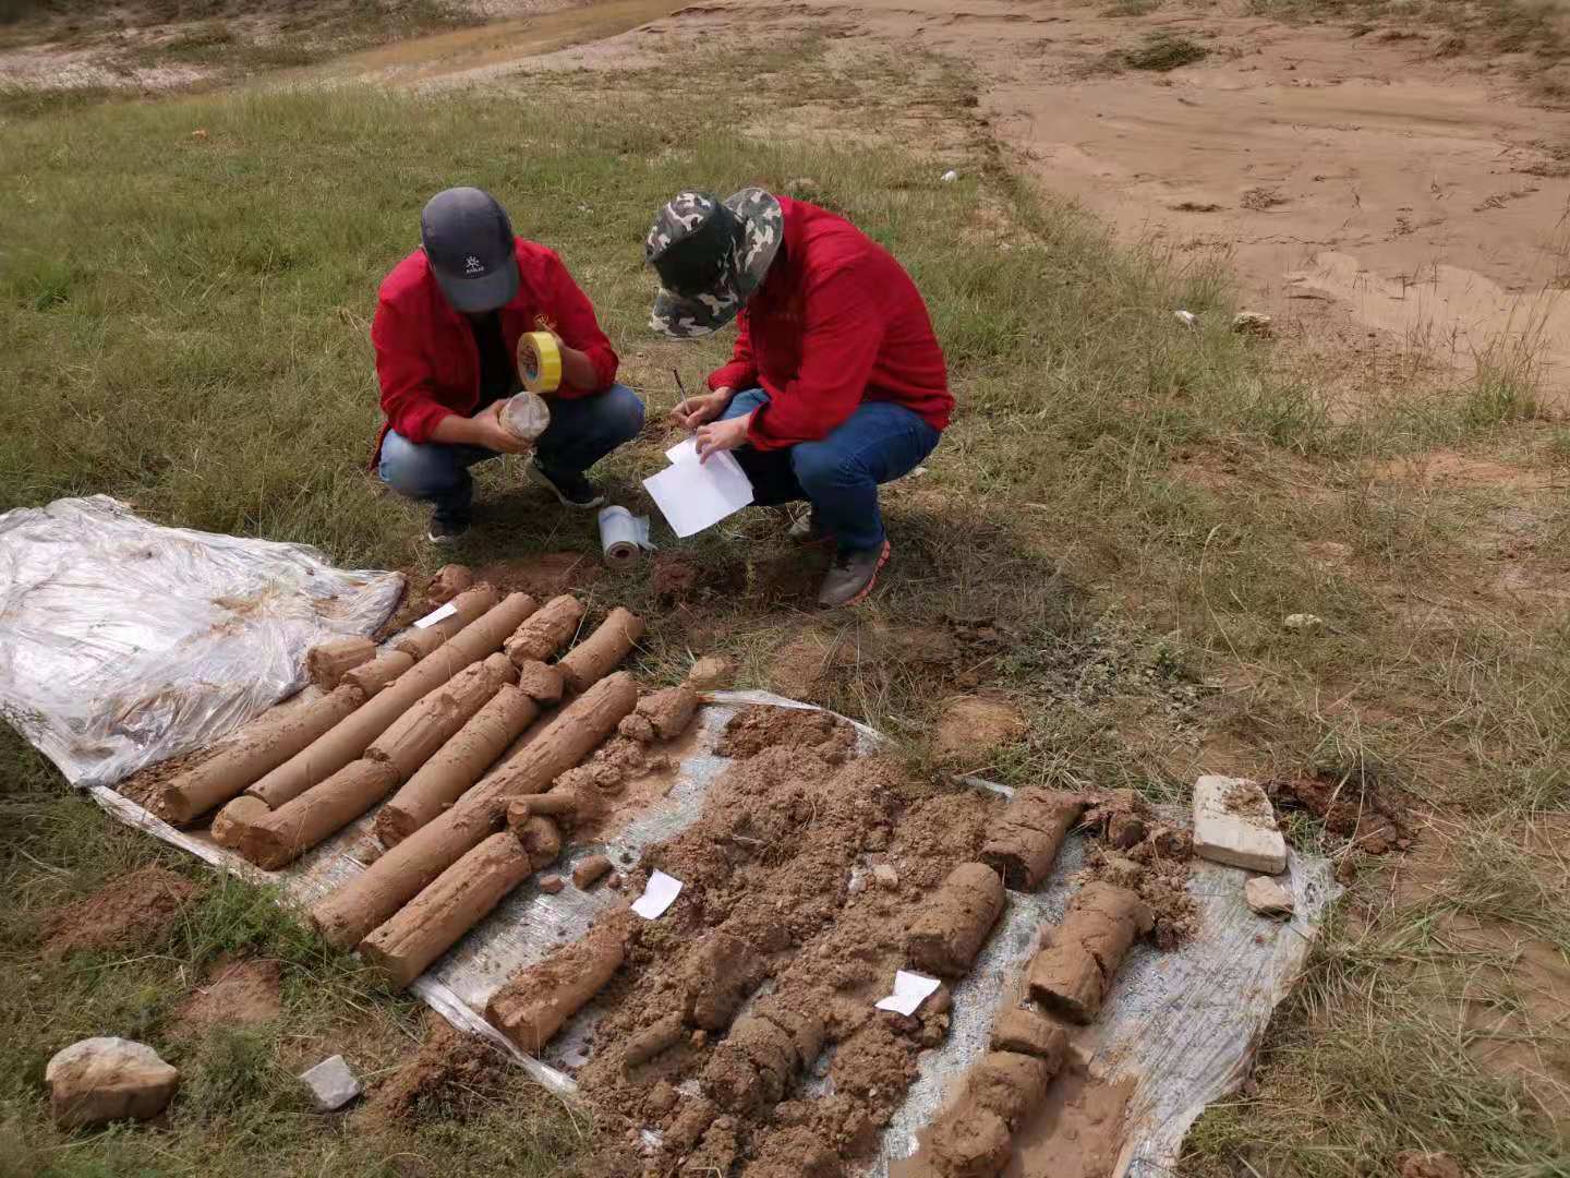
M 564 385 L 554 396 L 581 397 L 600 393 L 615 380 L 617 357 L 593 316 L 593 306 L 551 250 L 521 237 L 518 247 L 518 294 L 501 308 L 501 335 L 507 352 L 517 353 L 518 336 L 543 320 L 564 342 L 593 361 L 593 388 Z M 480 353 L 474 331 L 452 309 L 424 250 L 414 250 L 382 281 L 377 317 L 371 324 L 382 382 L 382 412 L 388 429 L 410 441 L 430 441 L 430 430 L 449 413 L 469 416 L 480 399 Z

